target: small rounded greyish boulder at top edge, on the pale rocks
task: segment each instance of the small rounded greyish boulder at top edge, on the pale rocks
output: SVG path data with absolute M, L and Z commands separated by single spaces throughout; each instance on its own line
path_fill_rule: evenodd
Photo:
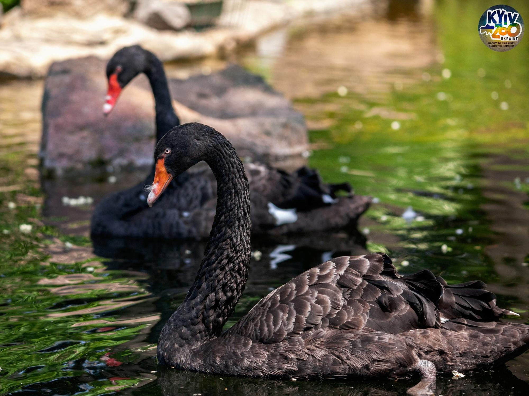
M 159 30 L 180 30 L 191 21 L 184 3 L 168 0 L 139 0 L 134 10 L 136 20 Z

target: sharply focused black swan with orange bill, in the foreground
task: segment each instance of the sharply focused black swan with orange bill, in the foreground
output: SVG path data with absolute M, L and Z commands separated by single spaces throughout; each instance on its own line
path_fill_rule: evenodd
M 213 227 L 195 282 L 163 327 L 161 364 L 217 374 L 286 378 L 402 378 L 432 394 L 436 371 L 504 363 L 529 346 L 529 326 L 499 322 L 481 281 L 447 285 L 423 270 L 401 276 L 383 253 L 326 261 L 261 299 L 223 331 L 248 277 L 250 197 L 242 162 L 215 129 L 172 128 L 156 146 L 152 205 L 199 161 L 217 178 Z M 514 314 L 515 315 L 515 314 Z

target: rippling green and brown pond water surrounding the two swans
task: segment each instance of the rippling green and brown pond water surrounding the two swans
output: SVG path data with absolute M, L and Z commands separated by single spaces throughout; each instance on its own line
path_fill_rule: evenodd
M 509 5 L 529 15 L 526 2 Z M 231 61 L 262 74 L 305 114 L 309 165 L 376 197 L 358 234 L 252 240 L 262 258 L 252 260 L 227 326 L 299 272 L 366 251 L 388 252 L 403 273 L 482 279 L 498 305 L 528 323 L 529 42 L 487 49 L 476 24 L 489 6 L 367 3 L 270 32 L 227 60 L 169 66 L 181 76 Z M 42 81 L 0 86 L 0 393 L 398 395 L 415 384 L 238 379 L 159 366 L 158 334 L 204 243 L 92 243 L 92 205 L 62 206 L 43 192 L 54 185 L 37 170 L 41 95 Z M 76 189 L 104 195 L 139 176 Z M 440 376 L 436 394 L 526 395 L 529 353 L 466 374 Z

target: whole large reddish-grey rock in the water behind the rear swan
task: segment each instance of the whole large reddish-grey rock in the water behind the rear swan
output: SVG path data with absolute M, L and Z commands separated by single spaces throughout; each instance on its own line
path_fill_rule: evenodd
M 154 100 L 148 80 L 143 75 L 135 78 L 105 117 L 105 65 L 95 56 L 51 65 L 42 98 L 44 175 L 152 164 Z M 303 115 L 261 77 L 238 66 L 209 76 L 171 79 L 169 86 L 181 122 L 213 126 L 241 157 L 277 163 L 307 149 Z

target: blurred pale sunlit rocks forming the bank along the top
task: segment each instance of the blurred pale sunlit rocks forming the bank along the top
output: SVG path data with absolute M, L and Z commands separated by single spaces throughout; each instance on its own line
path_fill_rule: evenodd
M 233 50 L 296 17 L 364 0 L 1 0 L 0 75 L 43 77 L 53 61 L 141 44 L 162 61 Z M 163 12 L 161 12 L 163 10 Z

